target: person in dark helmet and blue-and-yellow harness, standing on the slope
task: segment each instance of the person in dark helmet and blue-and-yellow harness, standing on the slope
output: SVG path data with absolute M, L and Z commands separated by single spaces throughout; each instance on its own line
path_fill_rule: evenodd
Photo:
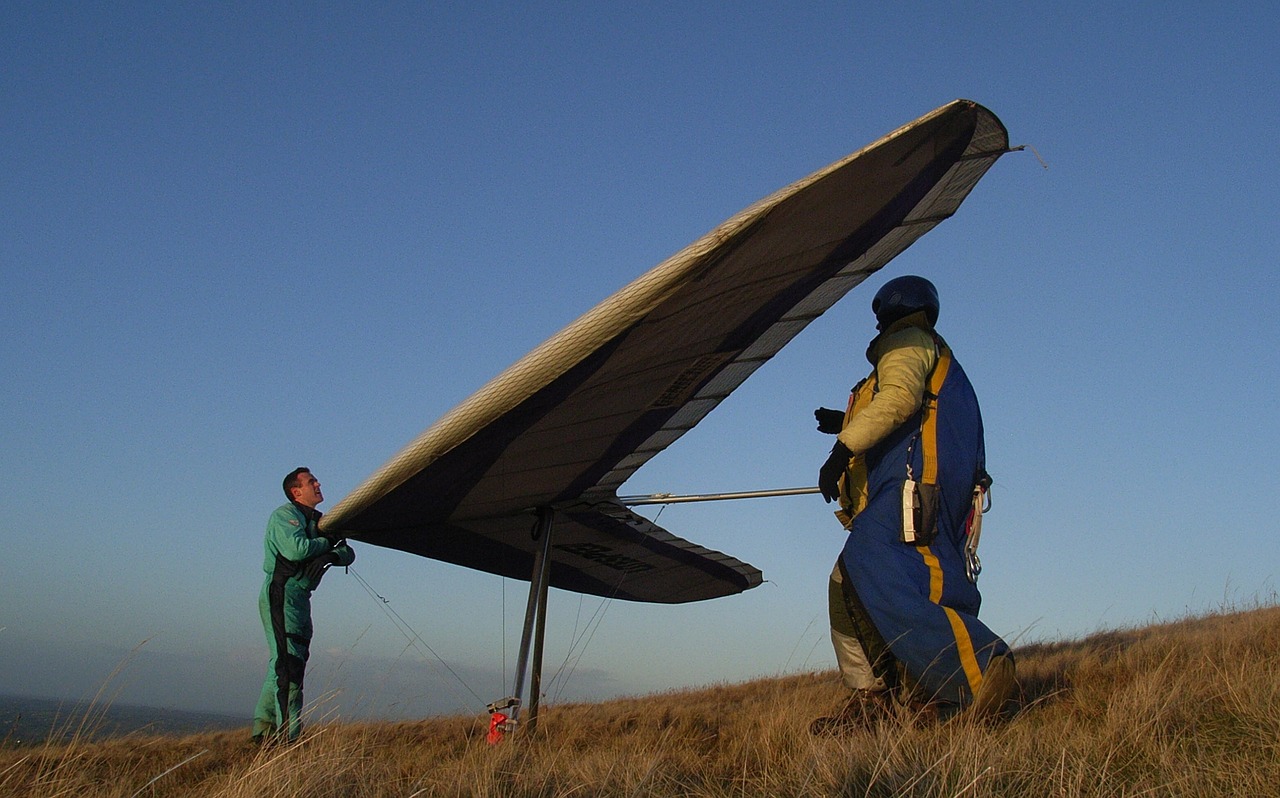
M 938 292 L 923 277 L 872 301 L 872 373 L 847 409 L 819 409 L 837 436 L 818 485 L 849 529 L 828 585 L 831 637 L 854 693 L 814 733 L 886 713 L 892 702 L 948 717 L 998 713 L 1011 696 L 1009 646 L 978 620 L 966 534 L 991 484 L 982 414 L 964 369 L 934 330 Z

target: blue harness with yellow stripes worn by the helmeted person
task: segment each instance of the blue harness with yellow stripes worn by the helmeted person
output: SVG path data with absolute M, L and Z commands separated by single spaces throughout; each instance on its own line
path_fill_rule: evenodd
M 837 567 L 851 630 L 876 676 L 918 699 L 963 706 L 978 692 L 991 658 L 1009 656 L 1009 646 L 978 620 L 982 597 L 965 571 L 966 521 L 974 485 L 986 475 L 978 398 L 946 343 L 925 332 L 938 360 L 924 401 L 850 469 L 850 482 L 865 480 L 850 491 L 856 497 L 865 489 L 855 502 L 865 505 L 846 507 L 845 517 L 852 519 Z M 873 342 L 869 357 L 877 352 Z M 855 389 L 851 410 L 856 391 L 876 389 L 873 378 L 874 371 Z M 909 475 L 936 484 L 937 537 L 927 544 L 902 541 Z

